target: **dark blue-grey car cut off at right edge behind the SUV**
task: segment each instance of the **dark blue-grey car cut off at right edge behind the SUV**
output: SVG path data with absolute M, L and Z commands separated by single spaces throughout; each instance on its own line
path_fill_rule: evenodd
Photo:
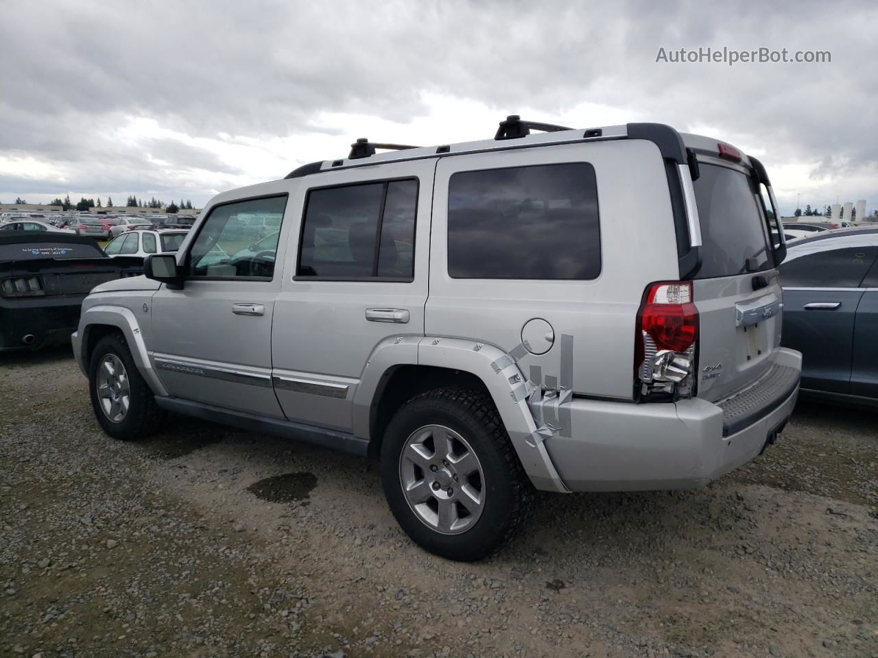
M 783 345 L 802 391 L 878 404 L 878 227 L 813 233 L 781 264 Z

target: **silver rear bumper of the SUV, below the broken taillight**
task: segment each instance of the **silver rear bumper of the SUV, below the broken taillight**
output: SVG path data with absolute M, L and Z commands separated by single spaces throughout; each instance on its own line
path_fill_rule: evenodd
M 794 381 L 777 386 L 763 377 L 745 391 L 752 404 L 743 414 L 741 404 L 697 397 L 667 404 L 574 398 L 572 436 L 553 436 L 546 449 L 573 491 L 703 486 L 752 460 L 786 424 L 798 396 L 802 355 L 781 349 L 775 364 L 793 368 Z

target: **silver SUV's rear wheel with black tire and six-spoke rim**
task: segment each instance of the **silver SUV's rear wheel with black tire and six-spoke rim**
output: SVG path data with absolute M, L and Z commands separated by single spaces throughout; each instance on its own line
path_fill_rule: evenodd
M 461 388 L 430 390 L 399 408 L 381 447 L 381 482 L 408 536 L 457 561 L 504 547 L 533 495 L 491 399 Z

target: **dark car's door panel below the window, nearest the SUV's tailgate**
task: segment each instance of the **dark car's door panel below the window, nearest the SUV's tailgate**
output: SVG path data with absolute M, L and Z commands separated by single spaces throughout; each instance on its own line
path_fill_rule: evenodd
M 783 290 L 782 342 L 802 353 L 803 389 L 849 392 L 853 324 L 862 294 L 856 289 Z

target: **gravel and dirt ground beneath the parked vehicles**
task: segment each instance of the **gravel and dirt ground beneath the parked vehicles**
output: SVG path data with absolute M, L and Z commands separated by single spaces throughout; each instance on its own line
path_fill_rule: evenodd
M 426 554 L 369 461 L 92 418 L 69 349 L 0 357 L 0 654 L 878 656 L 878 414 L 802 403 L 707 489 L 540 495 Z

